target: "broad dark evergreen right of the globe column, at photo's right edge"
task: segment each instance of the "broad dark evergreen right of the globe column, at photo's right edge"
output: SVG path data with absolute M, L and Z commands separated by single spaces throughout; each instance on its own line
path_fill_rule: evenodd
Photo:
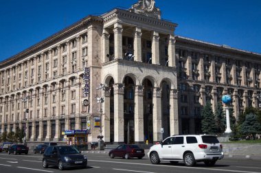
M 251 134 L 255 139 L 256 133 L 261 132 L 261 124 L 258 122 L 258 116 L 255 114 L 247 114 L 245 121 L 240 125 L 240 132 L 242 134 Z

